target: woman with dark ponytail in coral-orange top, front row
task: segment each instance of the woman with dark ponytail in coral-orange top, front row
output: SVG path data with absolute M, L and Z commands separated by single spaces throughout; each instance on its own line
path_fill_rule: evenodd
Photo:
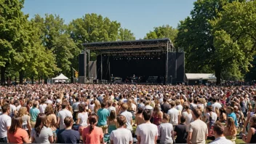
M 97 127 L 97 115 L 92 114 L 88 118 L 89 127 L 83 129 L 82 137 L 84 143 L 104 143 L 103 129 Z

